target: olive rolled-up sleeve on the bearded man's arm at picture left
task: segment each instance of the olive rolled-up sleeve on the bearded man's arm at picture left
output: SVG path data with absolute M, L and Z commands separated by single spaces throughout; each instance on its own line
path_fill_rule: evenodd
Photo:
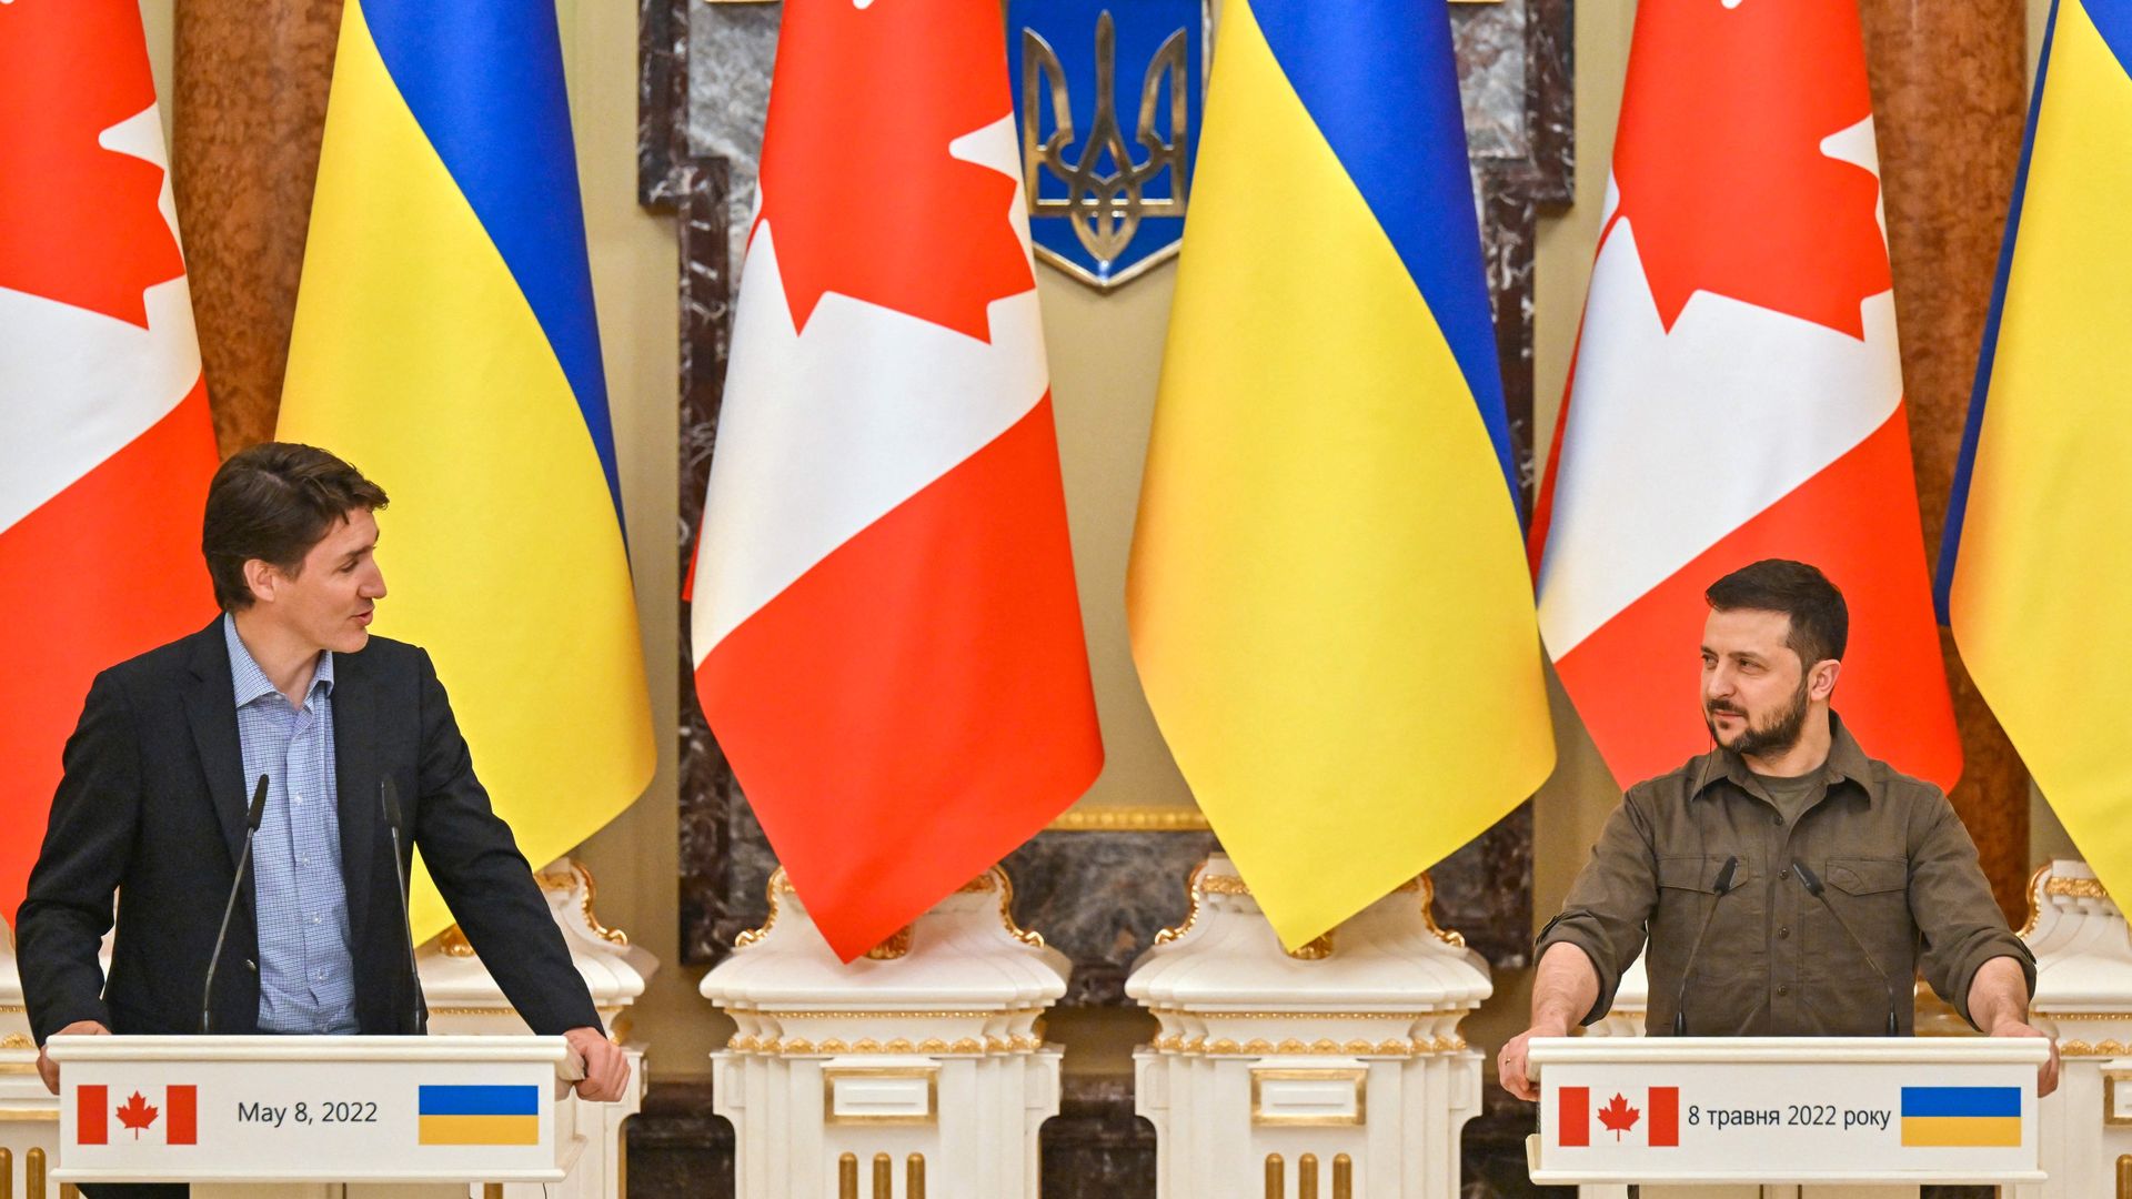
M 1650 792 L 1635 785 L 1608 817 L 1593 860 L 1563 900 L 1563 911 L 1539 930 L 1535 962 L 1556 943 L 1584 949 L 1599 975 L 1599 1001 L 1580 1024 L 1590 1024 L 1614 1007 L 1620 975 L 1644 952 L 1650 913 L 1659 905 L 1659 858 L 1646 813 Z

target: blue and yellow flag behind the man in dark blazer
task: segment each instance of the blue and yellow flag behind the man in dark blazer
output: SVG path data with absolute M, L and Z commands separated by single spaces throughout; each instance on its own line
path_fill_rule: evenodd
M 392 495 L 429 649 L 542 866 L 650 783 L 650 702 L 552 0 L 350 0 L 277 435 Z M 426 877 L 416 937 L 450 924 Z

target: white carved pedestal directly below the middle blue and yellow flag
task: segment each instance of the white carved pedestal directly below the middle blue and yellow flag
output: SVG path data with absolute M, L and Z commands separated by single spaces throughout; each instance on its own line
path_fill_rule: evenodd
M 1458 1022 L 1488 964 L 1428 917 L 1416 879 L 1288 954 L 1228 858 L 1134 962 L 1160 1022 L 1134 1054 L 1162 1199 L 1452 1199 L 1480 1054 Z

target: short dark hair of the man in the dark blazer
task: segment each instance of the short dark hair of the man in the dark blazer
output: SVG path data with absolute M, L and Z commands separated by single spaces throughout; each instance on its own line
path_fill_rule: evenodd
M 260 559 L 294 578 L 311 546 L 350 512 L 375 512 L 386 491 L 316 446 L 260 442 L 230 454 L 207 484 L 200 553 L 224 612 L 252 606 L 245 563 Z

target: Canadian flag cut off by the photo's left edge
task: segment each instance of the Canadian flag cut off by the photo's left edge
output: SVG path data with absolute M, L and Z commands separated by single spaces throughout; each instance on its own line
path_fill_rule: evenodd
M 207 623 L 207 384 L 134 0 L 0 4 L 0 915 L 98 670 Z

